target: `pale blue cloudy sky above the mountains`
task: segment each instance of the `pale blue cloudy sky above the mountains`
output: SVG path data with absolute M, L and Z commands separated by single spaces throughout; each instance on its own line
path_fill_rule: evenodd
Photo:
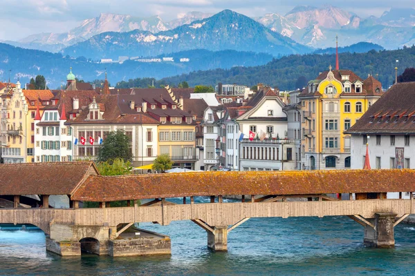
M 250 17 L 286 12 L 298 5 L 324 6 L 324 0 L 0 0 L 0 40 L 19 40 L 40 32 L 67 32 L 84 19 L 100 13 L 131 14 L 138 17 L 160 15 L 165 21 L 192 11 L 216 13 L 234 10 Z M 414 0 L 331 0 L 331 6 L 360 17 L 379 17 L 393 4 L 415 8 Z

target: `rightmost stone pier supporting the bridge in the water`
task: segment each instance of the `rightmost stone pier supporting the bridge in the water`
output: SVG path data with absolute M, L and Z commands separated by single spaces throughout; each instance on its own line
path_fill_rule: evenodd
M 394 247 L 395 217 L 394 213 L 376 213 L 374 219 L 367 219 L 370 224 L 365 224 L 364 244 L 378 248 Z

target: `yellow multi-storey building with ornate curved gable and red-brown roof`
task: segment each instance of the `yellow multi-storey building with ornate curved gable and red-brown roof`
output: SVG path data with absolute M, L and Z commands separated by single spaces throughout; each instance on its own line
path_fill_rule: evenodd
M 350 135 L 343 132 L 382 96 L 374 77 L 350 70 L 322 72 L 299 95 L 302 115 L 302 169 L 350 168 Z

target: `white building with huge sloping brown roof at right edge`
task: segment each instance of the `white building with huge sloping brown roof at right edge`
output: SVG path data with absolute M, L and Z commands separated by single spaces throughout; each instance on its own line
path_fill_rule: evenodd
M 394 84 L 345 132 L 351 135 L 351 168 L 363 168 L 367 146 L 372 169 L 415 168 L 414 91 L 415 82 Z

